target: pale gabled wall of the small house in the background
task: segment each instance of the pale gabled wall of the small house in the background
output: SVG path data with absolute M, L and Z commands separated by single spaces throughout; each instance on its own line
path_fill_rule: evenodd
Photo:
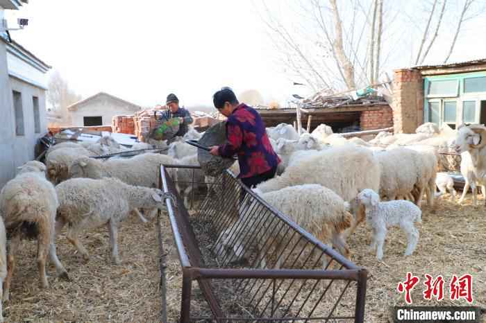
M 76 127 L 84 125 L 83 118 L 85 116 L 101 116 L 103 125 L 111 125 L 113 116 L 133 114 L 133 112 L 138 110 L 140 109 L 134 108 L 133 105 L 101 95 L 81 103 L 76 107 L 76 110 L 69 111 L 69 117 L 72 120 L 72 125 Z

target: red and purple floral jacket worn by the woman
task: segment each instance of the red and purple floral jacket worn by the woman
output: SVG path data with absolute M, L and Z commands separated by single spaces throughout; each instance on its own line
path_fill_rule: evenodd
M 233 110 L 226 121 L 226 139 L 226 143 L 219 146 L 219 155 L 232 157 L 237 154 L 240 178 L 266 173 L 280 163 L 270 144 L 265 123 L 253 107 L 242 103 Z

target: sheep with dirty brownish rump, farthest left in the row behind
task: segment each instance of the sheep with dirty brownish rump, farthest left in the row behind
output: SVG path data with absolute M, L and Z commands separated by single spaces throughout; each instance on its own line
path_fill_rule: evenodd
M 72 162 L 79 157 L 89 157 L 94 154 L 89 150 L 78 148 L 60 148 L 53 150 L 46 157 L 47 175 L 53 184 L 59 184 L 69 177 Z

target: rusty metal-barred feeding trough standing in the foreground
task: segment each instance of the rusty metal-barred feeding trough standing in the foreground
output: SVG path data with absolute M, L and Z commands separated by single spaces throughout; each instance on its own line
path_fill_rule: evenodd
M 192 170 L 192 181 L 185 184 L 193 187 L 194 210 L 185 207 L 170 168 Z M 199 166 L 160 167 L 160 187 L 174 196 L 165 202 L 183 272 L 180 322 L 364 321 L 367 270 L 305 232 L 231 171 L 205 183 L 194 182 L 197 171 Z M 199 203 L 196 186 L 208 186 Z M 254 220 L 235 227 L 238 218 Z M 230 227 L 226 241 L 238 242 L 237 261 L 231 252 L 219 253 L 228 247 L 221 232 Z M 164 320 L 165 290 L 171 286 L 166 286 L 161 234 L 159 247 Z

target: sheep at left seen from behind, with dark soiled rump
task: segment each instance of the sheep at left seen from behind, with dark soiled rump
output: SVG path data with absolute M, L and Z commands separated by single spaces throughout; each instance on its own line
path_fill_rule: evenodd
M 53 184 L 46 180 L 46 168 L 39 161 L 28 161 L 19 167 L 19 173 L 0 192 L 0 213 L 11 236 L 8 251 L 8 274 L 3 289 L 3 300 L 9 298 L 10 282 L 15 268 L 15 252 L 22 238 L 37 238 L 37 269 L 40 286 L 47 288 L 47 256 L 56 265 L 60 277 L 68 279 L 67 272 L 56 256 L 54 225 L 58 198 Z

